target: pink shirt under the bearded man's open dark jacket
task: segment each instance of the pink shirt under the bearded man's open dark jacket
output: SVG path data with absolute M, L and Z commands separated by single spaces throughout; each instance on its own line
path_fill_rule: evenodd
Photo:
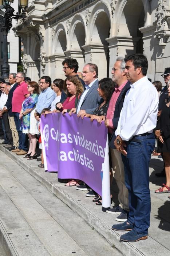
M 109 103 L 107 115 L 106 115 L 106 119 L 108 119 L 108 122 L 109 122 L 109 128 L 114 128 L 112 119 L 113 119 L 114 112 L 115 112 L 116 101 L 117 101 L 123 87 L 126 85 L 126 83 L 127 83 L 127 81 L 124 82 L 123 84 L 121 84 L 119 87 L 116 86 L 115 91 L 112 94 L 112 97 L 110 99 L 110 103 Z M 109 132 L 111 132 L 111 129 L 109 129 Z

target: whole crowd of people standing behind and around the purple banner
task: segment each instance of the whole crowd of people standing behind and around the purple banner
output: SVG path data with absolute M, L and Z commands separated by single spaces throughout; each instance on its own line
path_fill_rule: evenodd
M 128 231 L 122 241 L 145 240 L 150 226 L 149 161 L 151 154 L 162 157 L 166 176 L 155 193 L 170 192 L 170 68 L 162 74 L 166 86 L 147 78 L 148 61 L 143 54 L 117 57 L 112 79 L 98 80 L 98 67 L 87 63 L 78 72 L 76 59 L 63 61 L 66 79 L 51 81 L 42 76 L 31 81 L 23 72 L 9 74 L 9 82 L 0 78 L 0 144 L 28 160 L 37 158 L 42 148 L 39 121 L 41 114 L 62 112 L 104 122 L 108 127 L 110 176 L 118 186 L 119 205 L 106 210 L 117 214 L 113 230 Z M 159 104 L 158 104 L 159 103 Z M 37 140 L 39 139 L 39 143 Z M 155 148 L 157 139 L 157 152 Z M 28 146 L 29 140 L 29 146 Z M 57 155 L 57 153 L 56 153 Z M 140 181 L 140 182 L 139 182 Z M 102 197 L 80 180 L 67 180 L 67 187 L 87 190 L 102 205 Z M 111 195 L 112 202 L 112 195 Z

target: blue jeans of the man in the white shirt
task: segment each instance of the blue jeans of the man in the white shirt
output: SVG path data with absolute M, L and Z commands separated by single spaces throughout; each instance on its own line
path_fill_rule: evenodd
M 140 234 L 147 234 L 150 226 L 149 162 L 155 147 L 153 133 L 136 136 L 136 141 L 127 141 L 127 157 L 122 155 L 125 185 L 129 191 L 128 222 Z

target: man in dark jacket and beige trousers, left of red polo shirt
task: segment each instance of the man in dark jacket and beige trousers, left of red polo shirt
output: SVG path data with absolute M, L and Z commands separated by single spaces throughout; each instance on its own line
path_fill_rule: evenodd
M 2 114 L 8 114 L 8 120 L 9 120 L 9 127 L 11 129 L 12 133 L 12 139 L 13 139 L 13 146 L 9 147 L 9 151 L 14 150 L 18 147 L 19 143 L 19 138 L 18 138 L 18 132 L 16 129 L 15 121 L 14 121 L 14 114 L 12 113 L 12 97 L 13 97 L 13 92 L 15 91 L 17 87 L 16 83 L 16 74 L 11 73 L 9 74 L 9 83 L 11 84 L 11 90 L 9 91 L 8 94 L 8 99 L 7 102 L 4 106 L 4 109 L 2 110 Z

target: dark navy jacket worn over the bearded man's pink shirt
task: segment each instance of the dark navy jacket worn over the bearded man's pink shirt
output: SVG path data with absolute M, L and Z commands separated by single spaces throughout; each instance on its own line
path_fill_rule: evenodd
M 115 112 L 114 112 L 114 116 L 113 116 L 113 119 L 112 119 L 112 123 L 113 123 L 113 133 L 111 135 L 111 138 L 109 140 L 109 143 L 108 143 L 108 146 L 111 147 L 111 148 L 115 148 L 114 146 L 114 141 L 116 139 L 116 135 L 115 135 L 115 131 L 118 127 L 118 122 L 119 122 L 119 117 L 120 117 L 120 112 L 122 110 L 122 107 L 123 107 L 123 102 L 124 102 L 124 98 L 125 98 L 125 95 L 127 93 L 127 91 L 130 89 L 130 82 L 128 81 L 124 88 L 122 89 L 117 101 L 116 101 L 116 105 L 115 105 Z

